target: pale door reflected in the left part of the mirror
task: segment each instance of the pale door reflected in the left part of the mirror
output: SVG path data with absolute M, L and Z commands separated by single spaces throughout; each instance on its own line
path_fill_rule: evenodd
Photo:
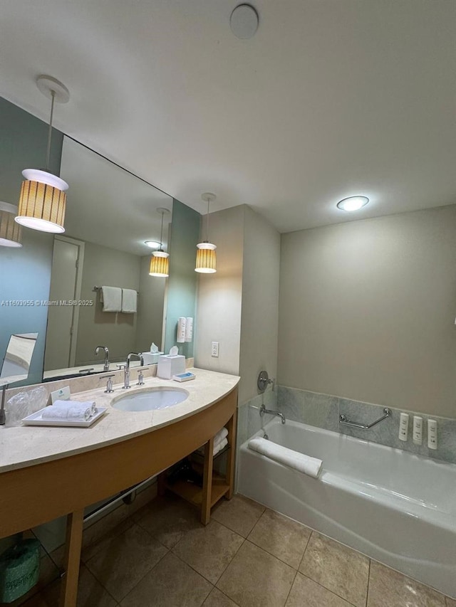
M 76 364 L 84 243 L 66 236 L 56 236 L 53 248 L 51 292 L 48 305 L 48 328 L 44 371 Z

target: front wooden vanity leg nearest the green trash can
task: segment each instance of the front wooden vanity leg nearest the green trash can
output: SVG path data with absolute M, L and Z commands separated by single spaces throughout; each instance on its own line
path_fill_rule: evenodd
M 65 574 L 61 581 L 59 607 L 76 607 L 78 598 L 79 562 L 83 539 L 83 510 L 68 514 L 66 522 Z

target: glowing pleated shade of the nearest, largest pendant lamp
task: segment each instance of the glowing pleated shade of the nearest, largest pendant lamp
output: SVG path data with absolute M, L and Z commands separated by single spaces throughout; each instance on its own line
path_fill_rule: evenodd
M 21 186 L 16 222 L 33 230 L 63 233 L 65 192 L 68 189 L 66 181 L 36 169 L 24 169 L 22 174 L 26 181 Z

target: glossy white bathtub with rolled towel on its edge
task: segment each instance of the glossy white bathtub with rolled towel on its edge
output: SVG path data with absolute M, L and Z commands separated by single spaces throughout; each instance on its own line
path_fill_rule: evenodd
M 456 465 L 274 419 L 255 436 L 323 460 L 318 479 L 239 450 L 237 490 L 456 597 Z

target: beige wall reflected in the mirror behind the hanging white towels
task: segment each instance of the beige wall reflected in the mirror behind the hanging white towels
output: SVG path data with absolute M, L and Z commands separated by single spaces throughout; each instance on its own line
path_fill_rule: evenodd
M 95 305 L 79 311 L 76 365 L 96 361 L 96 346 L 108 346 L 110 360 L 125 359 L 135 351 L 136 314 L 103 312 L 100 293 L 94 285 L 110 285 L 140 290 L 140 257 L 123 251 L 86 243 L 84 250 L 82 300 L 94 300 Z M 100 361 L 103 357 L 99 355 Z

